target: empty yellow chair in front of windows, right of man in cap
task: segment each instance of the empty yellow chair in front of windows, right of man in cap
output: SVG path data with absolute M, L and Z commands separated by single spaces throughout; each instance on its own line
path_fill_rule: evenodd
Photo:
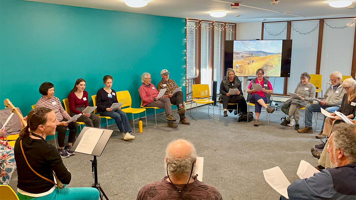
M 210 104 L 214 102 L 213 100 L 210 100 L 209 85 L 208 84 L 193 84 L 192 90 L 193 90 L 192 91 L 192 101 L 194 101 L 196 103 L 195 113 L 196 113 L 197 119 L 198 119 L 198 104 L 208 104 L 208 108 L 199 108 L 199 110 L 200 109 L 208 109 L 208 115 L 215 120 L 214 106 L 212 108 L 213 116 L 211 116 L 209 114 Z M 190 104 L 190 105 L 192 105 L 192 104 Z M 190 115 L 191 113 L 192 113 L 192 107 L 190 107 L 189 116 L 191 116 L 194 120 L 197 120 L 192 115 Z

